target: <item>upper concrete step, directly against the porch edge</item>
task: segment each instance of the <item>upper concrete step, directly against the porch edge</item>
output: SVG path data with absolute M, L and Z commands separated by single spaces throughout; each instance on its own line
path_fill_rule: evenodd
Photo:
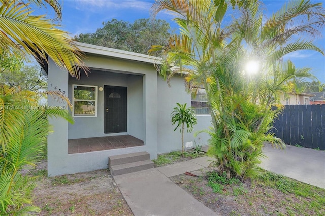
M 144 161 L 149 159 L 150 154 L 148 152 L 136 152 L 123 155 L 114 155 L 108 157 L 108 166 L 111 167 L 120 164 Z

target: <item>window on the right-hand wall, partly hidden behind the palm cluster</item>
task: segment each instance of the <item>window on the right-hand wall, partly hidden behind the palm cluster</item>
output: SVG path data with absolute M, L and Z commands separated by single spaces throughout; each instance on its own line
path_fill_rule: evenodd
M 204 88 L 192 88 L 191 103 L 196 114 L 210 114 L 208 96 Z

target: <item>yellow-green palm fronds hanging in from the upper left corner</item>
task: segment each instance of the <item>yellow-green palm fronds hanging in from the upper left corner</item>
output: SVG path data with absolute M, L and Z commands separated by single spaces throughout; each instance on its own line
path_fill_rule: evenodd
M 14 55 L 26 60 L 34 56 L 38 62 L 47 61 L 49 56 L 73 77 L 79 77 L 80 68 L 87 71 L 81 60 L 81 51 L 75 46 L 68 33 L 45 16 L 32 16 L 30 4 L 45 6 L 42 0 L 26 1 L 0 0 L 0 55 Z M 61 18 L 58 1 L 45 0 L 52 7 L 57 19 Z M 11 54 L 12 53 L 12 54 Z

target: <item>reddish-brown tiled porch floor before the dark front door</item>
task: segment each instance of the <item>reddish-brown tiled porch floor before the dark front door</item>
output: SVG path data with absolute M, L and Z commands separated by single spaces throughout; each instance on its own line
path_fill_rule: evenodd
M 143 141 L 130 135 L 69 139 L 68 154 L 142 146 Z

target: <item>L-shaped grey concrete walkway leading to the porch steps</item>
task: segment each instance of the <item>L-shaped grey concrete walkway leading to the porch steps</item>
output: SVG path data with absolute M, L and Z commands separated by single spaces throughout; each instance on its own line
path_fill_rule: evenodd
M 201 157 L 113 178 L 135 216 L 218 215 L 168 178 L 204 168 L 208 160 Z

